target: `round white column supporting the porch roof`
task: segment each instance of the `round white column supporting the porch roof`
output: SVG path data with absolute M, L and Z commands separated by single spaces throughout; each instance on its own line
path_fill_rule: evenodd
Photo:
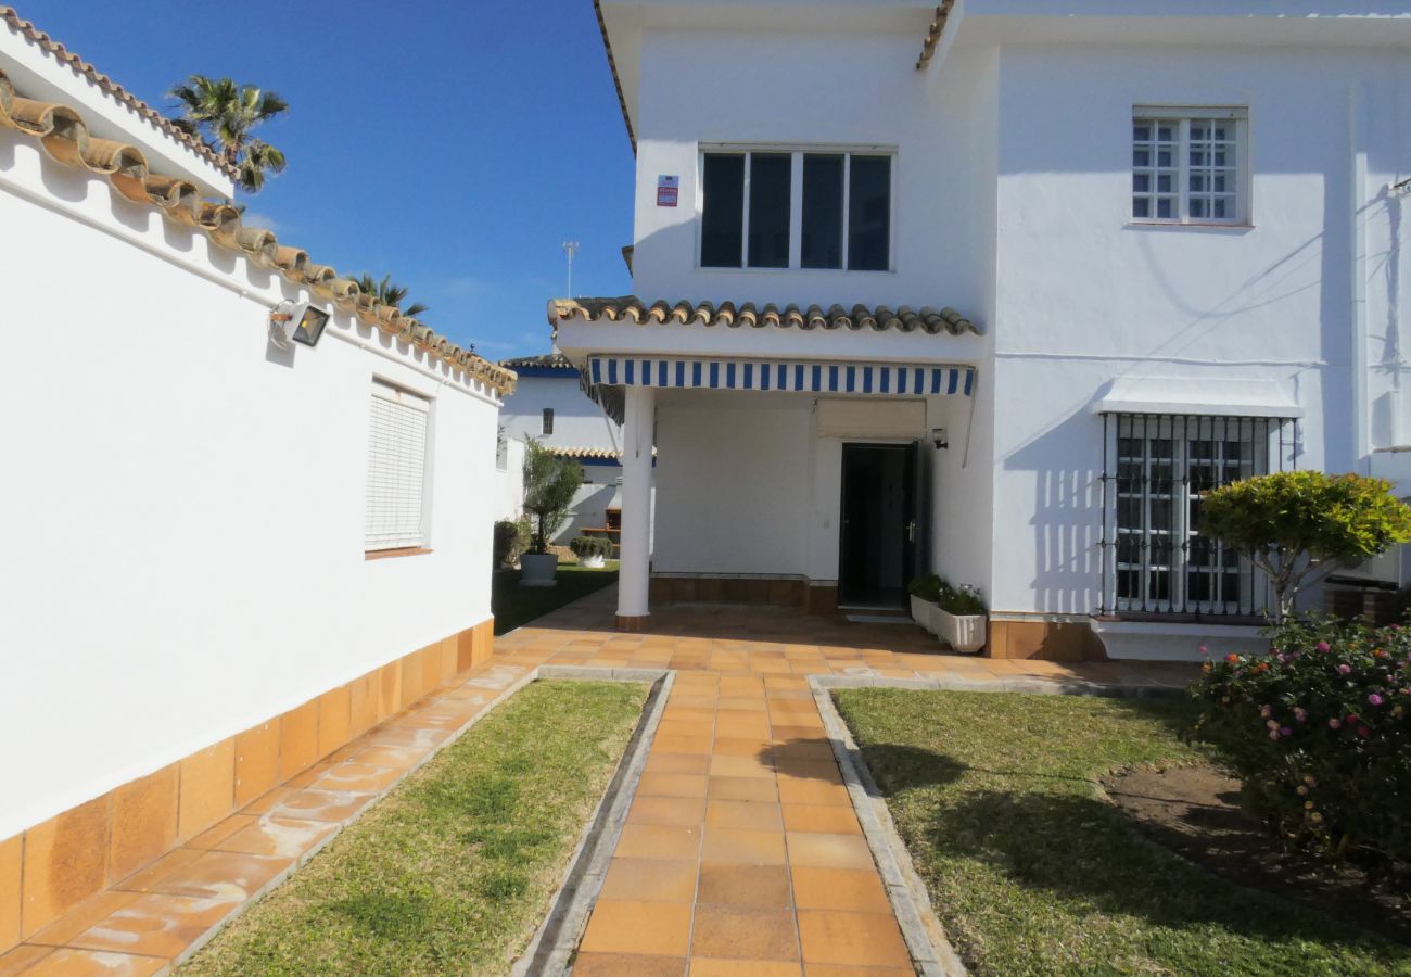
M 650 616 L 652 438 L 656 390 L 628 387 L 622 422 L 622 565 L 618 575 L 619 631 L 645 631 Z

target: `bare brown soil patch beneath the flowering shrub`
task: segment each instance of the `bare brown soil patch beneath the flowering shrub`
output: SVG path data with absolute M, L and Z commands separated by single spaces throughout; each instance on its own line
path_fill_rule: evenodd
M 1285 851 L 1239 802 L 1240 784 L 1199 764 L 1130 769 L 1103 779 L 1144 833 L 1240 885 L 1274 892 L 1401 943 L 1411 943 L 1411 873 L 1369 871 Z

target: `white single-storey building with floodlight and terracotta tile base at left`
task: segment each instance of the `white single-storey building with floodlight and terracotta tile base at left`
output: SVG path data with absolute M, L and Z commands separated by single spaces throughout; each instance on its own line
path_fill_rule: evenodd
M 514 374 L 231 191 L 0 7 L 0 953 L 491 649 Z

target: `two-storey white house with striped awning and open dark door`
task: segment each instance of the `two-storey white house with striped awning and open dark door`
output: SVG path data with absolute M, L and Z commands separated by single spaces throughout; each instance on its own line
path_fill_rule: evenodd
M 1197 532 L 1206 488 L 1411 491 L 1386 10 L 602 0 L 635 296 L 549 315 L 625 419 L 619 625 L 900 606 L 934 569 L 992 655 L 1253 641 L 1268 589 Z

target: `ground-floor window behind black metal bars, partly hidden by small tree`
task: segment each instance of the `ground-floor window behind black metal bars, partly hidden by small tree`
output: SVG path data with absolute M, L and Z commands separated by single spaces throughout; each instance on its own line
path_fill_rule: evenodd
M 1278 418 L 1105 414 L 1099 614 L 1263 614 L 1267 580 L 1201 535 L 1212 488 L 1283 470 L 1292 431 Z

